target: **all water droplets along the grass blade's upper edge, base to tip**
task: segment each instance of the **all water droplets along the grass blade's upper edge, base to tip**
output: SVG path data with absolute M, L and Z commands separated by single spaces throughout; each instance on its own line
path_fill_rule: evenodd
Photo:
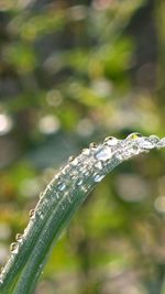
M 62 210 L 65 210 L 66 205 L 73 202 L 74 189 L 84 193 L 88 192 L 89 184 L 87 185 L 87 182 L 89 182 L 89 178 L 94 186 L 95 183 L 100 182 L 108 172 L 122 161 L 140 153 L 148 152 L 152 149 L 161 148 L 165 148 L 165 138 L 160 139 L 156 135 L 142 137 L 139 133 L 131 133 L 124 140 L 108 137 L 102 144 L 91 143 L 89 148 L 82 150 L 80 155 L 70 156 L 67 164 L 61 168 L 46 189 L 41 193 L 35 209 L 30 210 L 30 222 L 24 233 L 18 233 L 15 237 L 16 242 L 10 246 L 10 261 L 12 257 L 19 253 L 22 243 L 28 240 L 29 232 L 35 225 L 36 218 L 44 221 L 47 209 L 52 204 L 54 205 L 64 199 L 61 207 Z M 1 269 L 0 283 L 3 281 L 3 275 L 8 269 L 7 265 Z

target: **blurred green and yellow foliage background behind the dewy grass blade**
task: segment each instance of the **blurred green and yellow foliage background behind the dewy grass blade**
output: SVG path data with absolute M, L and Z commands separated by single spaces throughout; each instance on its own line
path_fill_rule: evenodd
M 38 194 L 91 141 L 165 135 L 164 0 L 0 1 L 0 264 Z M 165 154 L 89 195 L 36 294 L 165 294 Z

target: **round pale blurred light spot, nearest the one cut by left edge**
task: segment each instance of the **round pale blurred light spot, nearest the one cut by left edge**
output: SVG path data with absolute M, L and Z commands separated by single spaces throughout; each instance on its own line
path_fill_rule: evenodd
M 55 116 L 45 116 L 38 122 L 40 131 L 45 134 L 57 132 L 59 127 L 59 120 Z

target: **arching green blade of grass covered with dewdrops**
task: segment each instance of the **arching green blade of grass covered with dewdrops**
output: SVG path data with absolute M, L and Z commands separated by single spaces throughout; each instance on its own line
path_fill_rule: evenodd
M 24 233 L 11 244 L 0 293 L 33 293 L 53 246 L 90 190 L 121 162 L 154 148 L 165 148 L 165 139 L 133 133 L 125 140 L 111 137 L 102 144 L 91 143 L 79 156 L 70 157 L 30 211 Z

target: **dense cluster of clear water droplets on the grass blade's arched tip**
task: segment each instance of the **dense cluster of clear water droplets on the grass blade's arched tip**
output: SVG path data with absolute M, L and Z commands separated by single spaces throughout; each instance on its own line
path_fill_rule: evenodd
M 90 143 L 79 156 L 69 157 L 68 164 L 62 170 L 64 177 L 57 184 L 57 189 L 64 192 L 69 181 L 74 185 L 84 187 L 84 182 L 89 174 L 95 182 L 100 182 L 112 163 L 117 165 L 142 152 L 164 146 L 165 139 L 156 135 L 142 137 L 139 133 L 131 133 L 124 140 L 108 137 L 102 144 Z

